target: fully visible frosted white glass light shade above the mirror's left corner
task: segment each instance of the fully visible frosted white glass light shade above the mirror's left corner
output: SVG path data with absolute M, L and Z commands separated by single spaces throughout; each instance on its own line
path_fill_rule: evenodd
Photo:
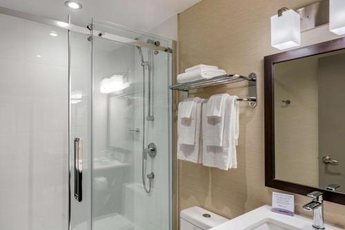
M 286 10 L 281 17 L 270 17 L 271 45 L 278 50 L 301 44 L 301 18 L 294 10 Z

